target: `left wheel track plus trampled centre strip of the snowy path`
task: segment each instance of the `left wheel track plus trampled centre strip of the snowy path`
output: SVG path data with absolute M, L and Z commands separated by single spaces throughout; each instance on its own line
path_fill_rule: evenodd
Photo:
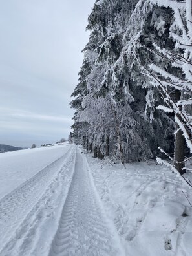
M 50 244 L 43 240 L 39 246 L 41 229 L 49 225 L 43 236 L 47 229 L 49 232 L 54 231 L 53 225 L 57 222 L 55 211 L 59 211 L 59 205 L 65 202 L 72 180 L 75 156 L 76 146 L 72 145 L 67 153 L 0 200 L 0 255 L 48 254 Z M 50 239 L 53 237 L 54 235 Z M 47 244 L 44 249 L 43 243 Z

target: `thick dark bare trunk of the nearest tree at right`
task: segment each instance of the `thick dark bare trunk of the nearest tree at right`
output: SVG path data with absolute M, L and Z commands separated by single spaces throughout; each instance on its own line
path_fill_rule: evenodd
M 175 92 L 175 101 L 177 102 L 178 100 L 180 100 L 180 91 L 176 90 L 176 92 Z M 176 117 L 179 120 L 182 120 L 179 113 L 176 114 Z M 175 168 L 179 171 L 179 173 L 181 175 L 183 175 L 184 173 L 186 173 L 186 170 L 183 169 L 185 167 L 185 164 L 184 164 L 185 139 L 184 139 L 184 135 L 182 133 L 182 130 L 179 129 L 179 126 L 176 122 L 175 122 L 175 132 L 176 132 L 176 134 L 175 134 L 174 165 L 175 165 Z

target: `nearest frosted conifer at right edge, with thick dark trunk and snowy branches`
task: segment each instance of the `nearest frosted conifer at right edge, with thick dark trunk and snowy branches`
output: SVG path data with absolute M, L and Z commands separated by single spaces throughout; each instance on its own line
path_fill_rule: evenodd
M 183 174 L 186 161 L 184 138 L 191 150 L 191 1 L 151 0 L 145 4 L 140 1 L 140 6 L 146 4 L 156 12 L 156 21 L 153 23 L 151 20 L 150 26 L 152 25 L 153 30 L 158 31 L 161 37 L 158 39 L 156 34 L 153 40 L 150 40 L 151 45 L 146 45 L 137 38 L 136 43 L 139 42 L 140 48 L 151 52 L 154 59 L 146 66 L 146 63 L 138 58 L 138 54 L 137 58 L 145 74 L 151 78 L 151 84 L 158 88 L 164 98 L 165 105 L 158 106 L 158 109 L 173 113 L 175 117 L 174 158 L 169 158 L 173 160 L 180 174 Z M 144 22 L 144 27 L 146 26 L 147 19 Z M 147 31 L 151 30 L 147 28 Z M 162 34 L 167 35 L 167 39 L 163 40 Z

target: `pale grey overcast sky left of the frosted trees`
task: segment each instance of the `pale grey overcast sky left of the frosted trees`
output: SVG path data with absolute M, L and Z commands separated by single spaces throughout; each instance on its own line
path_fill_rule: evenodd
M 94 0 L 0 0 L 0 144 L 67 138 Z

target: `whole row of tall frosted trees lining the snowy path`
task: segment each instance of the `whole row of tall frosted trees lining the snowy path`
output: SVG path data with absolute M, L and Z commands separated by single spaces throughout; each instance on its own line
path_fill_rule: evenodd
M 183 174 L 192 152 L 191 0 L 96 1 L 87 30 L 73 142 L 98 158 L 157 158 Z

